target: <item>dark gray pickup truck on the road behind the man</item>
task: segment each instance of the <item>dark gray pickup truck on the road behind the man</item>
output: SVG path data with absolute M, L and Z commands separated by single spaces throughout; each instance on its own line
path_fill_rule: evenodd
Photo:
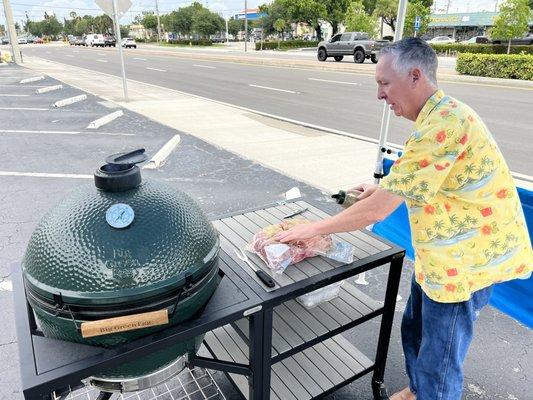
M 342 61 L 344 56 L 353 56 L 356 63 L 364 63 L 367 58 L 377 63 L 379 51 L 387 43 L 386 40 L 371 40 L 365 32 L 339 33 L 318 44 L 317 58 L 326 61 L 333 57 L 335 61 Z

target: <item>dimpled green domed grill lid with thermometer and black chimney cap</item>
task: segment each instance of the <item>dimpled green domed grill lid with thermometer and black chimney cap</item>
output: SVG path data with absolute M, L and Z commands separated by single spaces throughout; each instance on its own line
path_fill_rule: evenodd
M 31 291 L 70 304 L 127 305 L 175 292 L 213 268 L 218 233 L 185 193 L 141 183 L 135 164 L 143 153 L 108 158 L 112 167 L 95 173 L 99 189 L 78 188 L 41 220 L 22 262 Z

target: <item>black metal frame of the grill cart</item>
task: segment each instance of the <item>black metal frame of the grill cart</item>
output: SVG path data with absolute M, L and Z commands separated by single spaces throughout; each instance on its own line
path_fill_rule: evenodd
M 289 205 L 296 206 L 296 203 L 289 203 Z M 247 212 L 251 211 L 254 210 Z M 244 212 L 239 214 L 244 214 Z M 368 233 L 365 234 L 368 235 Z M 379 240 L 386 243 L 389 249 L 356 260 L 352 264 L 341 265 L 291 285 L 279 287 L 271 292 L 265 291 L 256 280 L 251 279 L 250 274 L 243 269 L 242 265 L 239 265 L 234 258 L 228 255 L 229 249 L 225 249 L 223 244 L 223 251 L 220 252 L 221 284 L 197 318 L 113 349 L 45 338 L 38 331 L 33 312 L 26 301 L 20 264 L 15 264 L 13 266 L 13 292 L 24 397 L 27 400 L 51 399 L 53 392 L 79 386 L 83 379 L 102 369 L 138 359 L 174 343 L 210 332 L 246 317 L 249 321 L 247 337 L 250 339 L 243 339 L 249 348 L 248 363 L 221 361 L 214 357 L 200 356 L 191 357 L 189 363 L 191 366 L 247 376 L 249 382 L 248 398 L 267 400 L 270 399 L 271 367 L 273 365 L 347 329 L 381 316 L 377 351 L 373 365 L 349 379 L 345 379 L 317 397 L 325 396 L 361 376 L 373 372 L 374 399 L 387 399 L 383 378 L 404 250 L 381 238 Z M 302 294 L 387 263 L 390 263 L 390 270 L 382 307 L 283 354 L 272 356 L 273 310 L 276 306 Z M 213 354 L 209 346 L 207 347 Z

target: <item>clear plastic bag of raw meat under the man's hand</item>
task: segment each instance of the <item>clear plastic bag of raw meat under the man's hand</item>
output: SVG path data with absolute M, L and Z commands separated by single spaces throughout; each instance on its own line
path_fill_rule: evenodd
M 306 240 L 279 243 L 274 236 L 282 231 L 308 222 L 305 219 L 291 219 L 269 225 L 257 232 L 247 250 L 257 254 L 276 273 L 283 273 L 290 264 L 296 264 L 308 257 L 321 255 L 342 263 L 354 260 L 354 248 L 348 243 L 333 239 L 330 235 L 319 235 Z

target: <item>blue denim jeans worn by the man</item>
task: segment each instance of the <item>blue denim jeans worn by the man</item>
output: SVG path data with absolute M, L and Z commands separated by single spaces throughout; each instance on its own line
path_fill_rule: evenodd
M 488 303 L 492 286 L 468 301 L 431 300 L 413 275 L 402 319 L 402 345 L 409 387 L 417 400 L 460 400 L 463 362 L 472 341 L 474 321 Z

